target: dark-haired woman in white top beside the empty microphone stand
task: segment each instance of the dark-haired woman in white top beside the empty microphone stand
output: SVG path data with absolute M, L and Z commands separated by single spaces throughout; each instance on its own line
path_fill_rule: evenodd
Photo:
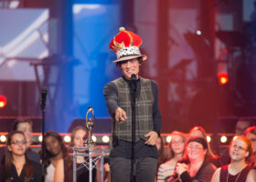
M 57 163 L 59 159 L 68 157 L 68 149 L 65 147 L 62 137 L 55 131 L 47 132 L 44 143 L 45 181 L 53 182 Z

